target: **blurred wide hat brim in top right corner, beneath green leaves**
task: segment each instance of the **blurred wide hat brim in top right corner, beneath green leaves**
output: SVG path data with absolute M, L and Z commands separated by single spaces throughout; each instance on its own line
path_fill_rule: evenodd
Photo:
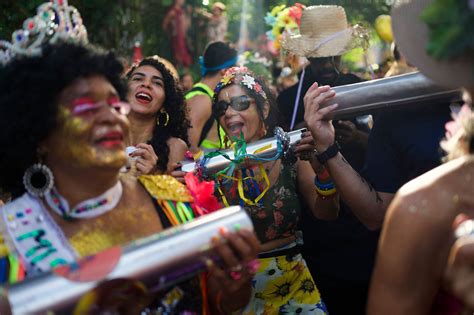
M 400 51 L 425 76 L 447 87 L 474 87 L 474 57 L 437 60 L 426 52 L 428 27 L 420 19 L 433 0 L 396 1 L 392 9 L 392 27 Z

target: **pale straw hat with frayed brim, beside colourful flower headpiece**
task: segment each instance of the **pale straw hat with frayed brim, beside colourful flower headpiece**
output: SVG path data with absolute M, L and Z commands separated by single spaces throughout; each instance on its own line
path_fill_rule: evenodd
M 284 38 L 282 47 L 302 57 L 340 56 L 350 49 L 352 39 L 344 8 L 318 5 L 303 10 L 300 35 Z

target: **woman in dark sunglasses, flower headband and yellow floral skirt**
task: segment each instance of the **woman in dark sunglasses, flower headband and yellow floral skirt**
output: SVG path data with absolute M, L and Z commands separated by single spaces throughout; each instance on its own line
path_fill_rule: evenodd
M 275 113 L 272 113 L 270 97 L 267 87 L 247 68 L 230 68 L 216 87 L 213 115 L 228 138 L 235 140 L 243 136 L 246 143 L 252 143 L 271 130 L 269 122 Z M 306 132 L 296 147 L 297 155 L 306 155 L 312 160 L 313 151 L 312 138 Z M 279 159 L 265 163 L 263 169 L 265 171 L 253 169 L 251 172 L 257 181 L 263 181 L 268 174 L 269 190 L 261 202 L 245 206 L 263 252 L 252 281 L 251 301 L 243 314 L 326 314 L 297 244 L 296 229 L 302 209 L 298 194 L 315 217 L 331 220 L 338 214 L 337 193 L 334 187 L 327 189 L 331 185 L 327 172 L 316 161 L 298 160 L 289 165 Z M 249 190 L 255 189 L 253 187 L 252 184 Z M 243 198 L 236 197 L 234 188 L 224 185 L 223 197 L 229 204 L 242 203 Z M 258 190 L 263 191 L 263 187 Z

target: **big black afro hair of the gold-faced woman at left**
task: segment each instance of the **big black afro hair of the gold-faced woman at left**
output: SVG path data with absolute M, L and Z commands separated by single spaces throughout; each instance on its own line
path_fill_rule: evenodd
M 122 65 L 91 45 L 46 44 L 39 56 L 16 57 L 0 67 L 0 187 L 24 192 L 25 170 L 38 162 L 38 146 L 58 124 L 58 97 L 81 77 L 102 75 L 125 97 Z

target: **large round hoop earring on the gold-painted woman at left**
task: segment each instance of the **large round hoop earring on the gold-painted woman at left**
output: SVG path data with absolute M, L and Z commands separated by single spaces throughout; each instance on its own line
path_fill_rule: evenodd
M 48 194 L 54 185 L 51 169 L 45 164 L 36 163 L 26 169 L 23 175 L 23 185 L 28 193 L 36 197 Z

